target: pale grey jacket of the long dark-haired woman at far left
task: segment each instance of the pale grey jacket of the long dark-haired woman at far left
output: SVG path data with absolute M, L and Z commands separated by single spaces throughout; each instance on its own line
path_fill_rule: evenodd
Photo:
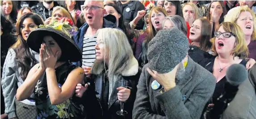
M 35 57 L 37 61 L 39 60 L 38 53 L 32 51 L 31 49 L 30 53 L 32 53 L 33 57 Z M 19 70 L 21 70 L 21 68 L 17 65 L 16 53 L 14 49 L 9 49 L 4 62 L 1 78 L 1 86 L 3 89 L 5 105 L 4 112 L 8 114 L 9 119 L 17 116 L 15 111 L 15 95 L 17 88 L 23 83 L 23 79 L 20 77 Z M 30 102 L 27 99 L 21 102 L 28 105 L 35 105 L 34 102 Z

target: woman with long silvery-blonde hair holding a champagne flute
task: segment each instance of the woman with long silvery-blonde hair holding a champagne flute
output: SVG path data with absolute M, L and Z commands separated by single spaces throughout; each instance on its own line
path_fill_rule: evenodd
M 132 119 L 136 86 L 141 72 L 138 62 L 129 47 L 126 34 L 121 30 L 104 28 L 97 33 L 96 61 L 88 81 L 90 86 L 84 94 L 87 119 Z M 127 82 L 127 86 L 118 86 L 120 81 Z M 76 95 L 82 97 L 87 86 L 77 84 Z M 124 103 L 123 111 L 127 112 L 126 115 L 117 115 L 120 102 Z

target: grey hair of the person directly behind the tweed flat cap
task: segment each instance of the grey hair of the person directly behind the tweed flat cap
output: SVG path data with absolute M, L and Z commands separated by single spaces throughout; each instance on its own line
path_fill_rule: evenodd
M 172 25 L 174 28 L 179 29 L 187 36 L 187 33 L 188 33 L 187 24 L 183 17 L 179 15 L 171 15 L 171 16 L 166 16 L 164 19 L 164 22 L 167 20 L 172 22 Z M 164 22 L 163 22 L 163 28 L 164 28 Z

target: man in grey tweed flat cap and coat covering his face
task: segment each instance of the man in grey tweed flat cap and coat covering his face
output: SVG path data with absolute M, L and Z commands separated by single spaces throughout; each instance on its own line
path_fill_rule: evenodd
M 214 76 L 188 56 L 178 29 L 160 30 L 148 45 L 133 119 L 199 119 L 215 88 Z

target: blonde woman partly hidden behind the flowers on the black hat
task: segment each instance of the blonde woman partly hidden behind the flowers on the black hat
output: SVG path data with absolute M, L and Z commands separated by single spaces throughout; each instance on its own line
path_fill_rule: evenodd
M 76 25 L 71 14 L 65 8 L 60 7 L 60 6 L 56 6 L 55 8 L 53 8 L 51 17 L 47 18 L 47 20 L 44 22 L 46 25 L 51 24 L 55 20 L 59 21 L 62 17 L 67 17 L 68 19 L 72 20 L 73 23 Z

